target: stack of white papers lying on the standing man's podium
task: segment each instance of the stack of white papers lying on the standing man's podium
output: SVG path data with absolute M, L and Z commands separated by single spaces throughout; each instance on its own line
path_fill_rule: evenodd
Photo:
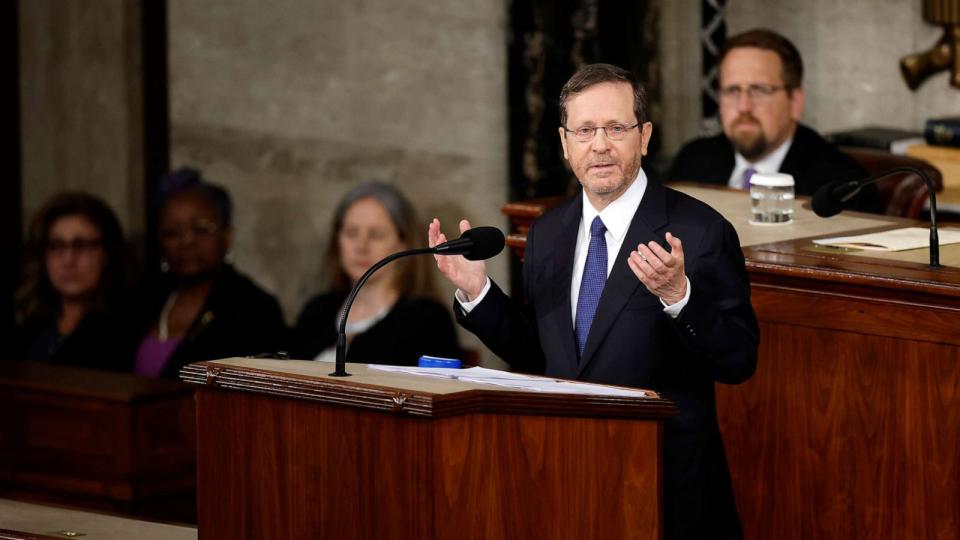
M 578 383 L 571 381 L 561 381 L 549 377 L 538 377 L 536 375 L 524 375 L 523 373 L 512 373 L 510 371 L 501 371 L 499 369 L 488 369 L 483 367 L 472 367 L 467 369 L 456 368 L 422 368 L 408 366 L 385 366 L 370 364 L 371 369 L 381 371 L 392 371 L 394 373 L 407 373 L 410 375 L 424 375 L 427 377 L 442 377 L 446 379 L 458 379 L 464 382 L 478 384 L 492 384 L 506 388 L 515 388 L 528 392 L 544 392 L 554 394 L 583 394 L 599 396 L 622 396 L 622 397 L 649 397 L 652 394 L 645 390 L 635 390 L 631 388 L 617 388 L 613 386 L 602 386 L 587 383 Z

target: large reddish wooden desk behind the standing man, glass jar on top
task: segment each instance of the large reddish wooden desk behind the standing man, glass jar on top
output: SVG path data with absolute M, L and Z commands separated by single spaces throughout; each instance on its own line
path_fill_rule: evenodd
M 903 220 L 795 207 L 792 226 L 752 227 L 746 194 L 678 187 L 737 228 L 760 321 L 756 374 L 717 385 L 746 538 L 957 538 L 960 269 L 810 250 Z

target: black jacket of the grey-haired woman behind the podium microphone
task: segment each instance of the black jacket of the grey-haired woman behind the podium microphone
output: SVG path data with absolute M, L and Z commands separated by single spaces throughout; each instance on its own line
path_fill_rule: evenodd
M 310 359 L 336 344 L 335 321 L 347 295 L 331 292 L 311 300 L 293 331 L 290 357 Z M 426 298 L 404 297 L 347 347 L 347 361 L 415 366 L 421 355 L 460 358 L 447 308 Z

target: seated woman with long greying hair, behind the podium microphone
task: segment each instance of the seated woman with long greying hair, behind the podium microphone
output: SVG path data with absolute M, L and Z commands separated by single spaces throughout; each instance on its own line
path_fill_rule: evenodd
M 330 228 L 330 290 L 303 309 L 291 357 L 334 361 L 337 318 L 351 288 L 384 257 L 425 247 L 421 230 L 413 206 L 393 186 L 370 182 L 347 193 Z M 459 358 L 450 313 L 431 298 L 433 264 L 433 257 L 407 257 L 370 277 L 347 319 L 348 362 L 417 365 L 421 355 Z

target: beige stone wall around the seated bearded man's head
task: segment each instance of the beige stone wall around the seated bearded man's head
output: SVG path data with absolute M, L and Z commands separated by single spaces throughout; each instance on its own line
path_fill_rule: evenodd
M 662 131 L 672 153 L 700 129 L 699 0 L 666 1 L 662 10 L 670 122 Z M 900 76 L 900 58 L 928 49 L 942 34 L 923 21 L 920 0 L 729 0 L 726 20 L 728 35 L 764 26 L 796 44 L 805 70 L 803 121 L 821 132 L 867 125 L 922 130 L 927 118 L 960 114 L 960 90 L 949 86 L 945 72 L 916 92 Z

